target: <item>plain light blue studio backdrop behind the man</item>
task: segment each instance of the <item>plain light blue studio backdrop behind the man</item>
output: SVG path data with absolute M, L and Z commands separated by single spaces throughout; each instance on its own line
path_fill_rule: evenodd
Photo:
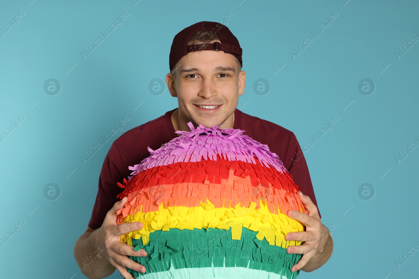
M 0 39 L 0 132 L 19 115 L 25 120 L 0 143 L 0 237 L 19 220 L 25 225 L 0 248 L 1 277 L 85 278 L 73 246 L 90 220 L 111 143 L 84 165 L 80 156 L 124 115 L 130 120 L 112 141 L 176 108 L 168 90 L 148 90 L 169 71 L 173 37 L 197 21 L 220 22 L 230 10 L 228 28 L 243 48 L 247 74 L 239 109 L 293 131 L 302 147 L 339 117 L 305 153 L 322 223 L 339 221 L 334 253 L 299 278 L 417 276 L 417 253 L 399 269 L 395 261 L 419 248 L 419 150 L 400 164 L 395 156 L 419 143 L 419 44 L 400 59 L 395 51 L 419 39 L 419 4 L 242 1 L 2 1 L 1 28 L 19 11 L 25 15 Z M 123 25 L 83 60 L 80 52 L 125 10 Z M 335 10 L 332 26 L 293 60 L 290 51 Z M 44 92 L 50 78 L 62 85 L 58 95 Z M 259 78 L 269 81 L 269 94 L 253 91 Z M 357 89 L 364 78 L 375 83 L 370 96 Z M 44 197 L 49 183 L 61 188 L 57 200 Z M 358 195 L 363 183 L 375 188 L 371 200 Z M 116 271 L 111 278 L 122 277 Z

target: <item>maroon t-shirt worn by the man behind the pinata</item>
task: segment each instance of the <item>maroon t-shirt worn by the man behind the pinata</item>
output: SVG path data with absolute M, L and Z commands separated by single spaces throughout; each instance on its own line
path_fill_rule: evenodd
M 88 224 L 89 228 L 101 227 L 106 213 L 115 202 L 119 201 L 116 196 L 123 191 L 116 182 L 122 183 L 124 178 L 127 179 L 131 174 L 132 171 L 128 169 L 128 166 L 140 164 L 143 159 L 150 156 L 147 146 L 156 150 L 163 143 L 178 136 L 173 128 L 172 112 L 173 110 L 170 110 L 159 118 L 132 128 L 112 143 L 103 161 L 98 194 Z M 317 207 L 307 163 L 294 133 L 275 123 L 243 113 L 237 108 L 234 111 L 233 128 L 244 130 L 243 134 L 266 144 L 270 151 L 276 153 L 292 175 L 295 184 L 300 187 L 301 192 L 309 196 Z

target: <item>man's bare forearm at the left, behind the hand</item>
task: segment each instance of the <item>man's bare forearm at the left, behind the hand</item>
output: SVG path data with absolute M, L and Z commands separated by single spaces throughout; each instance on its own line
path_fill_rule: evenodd
M 81 272 L 90 279 L 99 279 L 111 275 L 115 267 L 103 256 L 104 244 L 95 244 L 97 230 L 85 232 L 74 246 L 74 257 Z M 95 247 L 98 246 L 98 247 Z

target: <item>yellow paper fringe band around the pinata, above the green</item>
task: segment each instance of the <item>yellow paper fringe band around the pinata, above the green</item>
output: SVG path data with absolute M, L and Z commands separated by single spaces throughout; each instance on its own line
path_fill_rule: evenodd
M 184 206 L 168 206 L 164 208 L 164 204 L 160 205 L 158 211 L 140 212 L 135 209 L 134 215 L 128 215 L 122 223 L 142 222 L 143 228 L 121 235 L 121 242 L 132 243 L 132 238 L 142 238 L 145 245 L 149 241 L 149 234 L 155 230 L 168 231 L 171 228 L 180 230 L 194 228 L 218 228 L 229 230 L 231 228 L 231 238 L 240 240 L 242 228 L 257 231 L 256 237 L 259 240 L 263 238 L 270 245 L 288 246 L 300 245 L 301 241 L 285 241 L 285 235 L 293 231 L 305 230 L 304 225 L 297 220 L 289 218 L 287 215 L 278 210 L 279 214 L 269 211 L 266 202 L 260 201 L 260 208 L 256 208 L 256 203 L 251 202 L 249 207 L 235 208 L 215 208 L 215 206 L 207 200 L 207 203 L 201 202 L 199 207 Z

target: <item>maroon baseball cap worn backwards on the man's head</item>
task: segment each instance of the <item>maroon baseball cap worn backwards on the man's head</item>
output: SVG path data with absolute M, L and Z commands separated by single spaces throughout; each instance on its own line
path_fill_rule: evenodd
M 203 47 L 203 44 L 194 44 L 188 46 L 189 38 L 198 31 L 210 31 L 212 33 L 220 36 L 219 42 L 214 42 L 212 44 L 207 44 Z M 230 29 L 227 28 L 224 24 L 213 22 L 213 21 L 201 21 L 195 23 L 189 27 L 186 27 L 184 30 L 176 34 L 173 38 L 172 47 L 170 48 L 169 55 L 169 67 L 170 70 L 175 67 L 176 63 L 186 54 L 192 51 L 201 51 L 201 50 L 214 50 L 214 51 L 224 51 L 237 57 L 240 61 L 240 65 L 243 66 L 241 59 L 242 49 L 238 43 L 237 38 L 231 33 Z

